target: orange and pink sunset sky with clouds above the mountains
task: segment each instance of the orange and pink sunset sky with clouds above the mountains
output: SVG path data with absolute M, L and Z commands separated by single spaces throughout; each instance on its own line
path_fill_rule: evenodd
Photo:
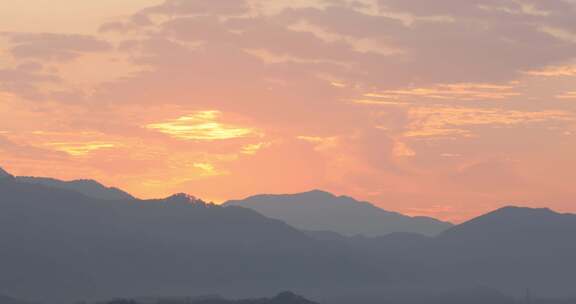
M 0 2 L 0 166 L 141 198 L 576 212 L 571 0 Z

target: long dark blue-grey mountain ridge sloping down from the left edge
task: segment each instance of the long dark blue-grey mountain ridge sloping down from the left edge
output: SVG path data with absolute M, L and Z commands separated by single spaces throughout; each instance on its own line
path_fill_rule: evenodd
M 279 220 L 185 194 L 109 201 L 0 180 L 0 239 L 2 290 L 43 302 L 250 297 L 364 272 Z

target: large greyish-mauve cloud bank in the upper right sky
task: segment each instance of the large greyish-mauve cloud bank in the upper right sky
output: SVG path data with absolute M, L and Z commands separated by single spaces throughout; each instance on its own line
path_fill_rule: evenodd
M 291 20 L 305 20 L 332 35 L 384 40 L 388 45 L 403 50 L 392 58 L 359 57 L 355 60 L 369 73 L 366 80 L 373 83 L 377 83 L 376 78 L 392 84 L 396 84 L 396 79 L 403 81 L 404 85 L 510 80 L 521 70 L 573 56 L 574 45 L 558 41 L 534 26 L 553 22 L 551 16 L 554 14 L 550 18 L 534 14 L 518 14 L 511 18 L 509 13 L 480 8 L 508 5 L 519 11 L 530 11 L 516 1 L 506 2 L 442 0 L 423 4 L 421 1 L 381 1 L 378 14 L 337 7 L 293 10 L 290 17 Z M 415 16 L 440 15 L 447 18 L 446 22 L 415 21 L 406 26 L 390 16 L 398 11 Z M 554 12 L 568 14 L 559 9 Z M 531 51 L 526 52 L 527 49 Z M 389 79 L 384 73 L 388 71 L 393 71 L 394 79 Z

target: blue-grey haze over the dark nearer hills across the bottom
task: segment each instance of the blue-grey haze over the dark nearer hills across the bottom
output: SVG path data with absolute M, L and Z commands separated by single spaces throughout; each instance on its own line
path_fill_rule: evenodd
M 574 296 L 575 234 L 576 215 L 506 207 L 436 237 L 312 238 L 254 210 L 186 194 L 104 200 L 5 177 L 0 290 L 59 303 L 280 290 L 326 303 L 426 303 L 409 295 L 470 295 L 477 286 Z

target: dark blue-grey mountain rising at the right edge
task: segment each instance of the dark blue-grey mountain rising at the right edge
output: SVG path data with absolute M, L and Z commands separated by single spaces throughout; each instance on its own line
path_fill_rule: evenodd
M 420 261 L 456 280 L 473 274 L 506 291 L 531 287 L 547 296 L 573 295 L 574 235 L 574 214 L 504 207 L 445 231 Z

